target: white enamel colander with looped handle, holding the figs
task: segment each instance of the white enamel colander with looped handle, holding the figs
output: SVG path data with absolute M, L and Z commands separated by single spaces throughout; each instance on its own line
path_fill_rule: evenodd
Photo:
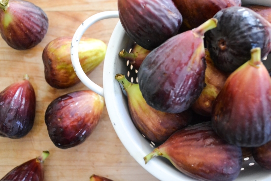
M 271 6 L 271 0 L 254 1 Z M 251 3 L 253 0 L 244 0 L 244 2 Z M 161 181 L 196 181 L 176 170 L 166 158 L 155 157 L 147 164 L 144 163 L 143 157 L 157 145 L 147 141 L 135 128 L 129 114 L 126 94 L 115 80 L 117 73 L 123 73 L 130 81 L 136 82 L 136 71 L 133 66 L 118 56 L 121 50 L 129 51 L 134 44 L 126 35 L 120 22 L 117 23 L 108 43 L 103 68 L 103 88 L 92 82 L 81 68 L 78 59 L 78 43 L 84 32 L 97 21 L 118 17 L 118 11 L 105 11 L 91 16 L 80 25 L 71 43 L 71 60 L 74 70 L 89 89 L 104 97 L 108 115 L 120 141 L 145 170 Z M 271 181 L 271 171 L 262 169 L 252 157 L 248 157 L 243 160 L 242 169 L 236 181 Z

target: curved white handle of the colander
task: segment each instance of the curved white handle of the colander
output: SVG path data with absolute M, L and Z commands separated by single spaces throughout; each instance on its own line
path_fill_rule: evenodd
M 96 83 L 94 83 L 92 80 L 90 80 L 80 65 L 79 56 L 78 56 L 78 45 L 79 45 L 79 41 L 81 37 L 91 25 L 93 25 L 97 21 L 100 21 L 103 19 L 109 19 L 109 18 L 119 18 L 119 12 L 118 11 L 104 11 L 104 12 L 97 13 L 89 17 L 88 19 L 86 19 L 74 33 L 71 40 L 71 45 L 70 45 L 71 63 L 73 65 L 73 69 L 76 75 L 85 86 L 87 86 L 90 90 L 96 92 L 97 94 L 101 95 L 102 97 L 104 97 L 103 88 L 97 85 Z

